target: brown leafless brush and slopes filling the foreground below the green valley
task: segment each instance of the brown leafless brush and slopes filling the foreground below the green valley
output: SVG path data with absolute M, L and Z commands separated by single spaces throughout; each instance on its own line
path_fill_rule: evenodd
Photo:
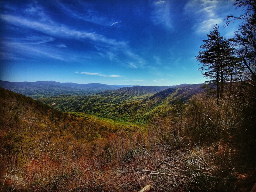
M 227 85 L 218 106 L 201 92 L 169 104 L 168 115 L 156 113 L 146 126 L 63 113 L 1 88 L 2 190 L 133 191 L 151 184 L 156 191 L 248 191 L 255 90 L 237 87 L 247 96 L 235 87 L 231 96 Z

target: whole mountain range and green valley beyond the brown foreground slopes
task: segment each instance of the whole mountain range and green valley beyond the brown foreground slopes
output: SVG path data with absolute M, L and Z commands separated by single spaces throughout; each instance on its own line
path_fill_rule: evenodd
M 89 115 L 134 124 L 147 124 L 150 116 L 171 113 L 178 100 L 186 103 L 204 91 L 203 84 L 172 86 L 131 86 L 106 84 L 75 84 L 55 81 L 7 82 L 0 86 L 36 99 L 62 112 Z

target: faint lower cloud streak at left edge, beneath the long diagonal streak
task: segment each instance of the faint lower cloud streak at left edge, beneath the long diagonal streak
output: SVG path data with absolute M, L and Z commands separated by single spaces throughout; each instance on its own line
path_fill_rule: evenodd
M 62 61 L 80 61 L 91 59 L 87 54 L 70 52 L 68 47 L 49 36 L 33 35 L 27 37 L 4 37 L 0 44 L 3 50 L 2 59 L 27 60 L 27 59 L 55 59 Z

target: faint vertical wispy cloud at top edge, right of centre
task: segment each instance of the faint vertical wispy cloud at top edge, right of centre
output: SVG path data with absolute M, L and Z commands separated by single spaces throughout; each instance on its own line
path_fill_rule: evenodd
M 166 28 L 172 28 L 172 16 L 169 1 L 157 1 L 153 3 L 152 21 L 155 25 L 163 25 Z

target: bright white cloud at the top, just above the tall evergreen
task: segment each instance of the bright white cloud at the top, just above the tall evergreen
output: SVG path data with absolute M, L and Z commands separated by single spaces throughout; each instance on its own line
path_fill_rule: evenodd
M 184 7 L 188 15 L 196 17 L 194 29 L 197 33 L 210 31 L 215 24 L 222 24 L 223 19 L 218 14 L 220 1 L 217 0 L 189 0 Z

